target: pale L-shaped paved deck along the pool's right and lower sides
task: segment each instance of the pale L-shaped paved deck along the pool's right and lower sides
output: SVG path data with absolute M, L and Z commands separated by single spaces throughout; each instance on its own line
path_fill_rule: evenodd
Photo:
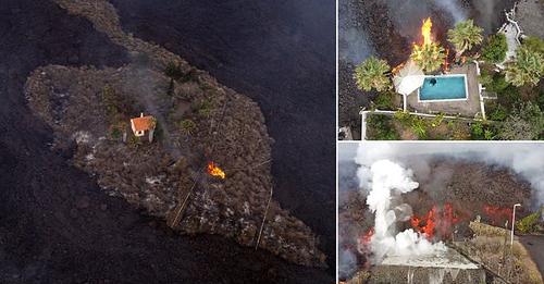
M 477 113 L 481 113 L 480 94 L 478 89 L 478 72 L 475 64 L 466 64 L 463 66 L 455 66 L 448 74 L 466 74 L 468 98 L 467 100 L 456 101 L 419 101 L 418 91 L 408 95 L 407 103 L 408 111 L 422 113 L 445 113 L 465 118 L 474 118 Z

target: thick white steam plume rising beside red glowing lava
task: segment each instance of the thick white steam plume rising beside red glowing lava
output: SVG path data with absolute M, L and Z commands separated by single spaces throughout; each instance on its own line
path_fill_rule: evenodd
M 374 234 L 370 243 L 375 262 L 381 262 L 386 256 L 415 257 L 446 250 L 444 244 L 432 244 L 411 229 L 398 234 L 396 232 L 396 223 L 406 221 L 407 215 L 411 215 L 411 208 L 406 203 L 394 208 L 395 195 L 419 187 L 410 170 L 390 160 L 379 160 L 370 168 L 362 165 L 359 173 L 360 176 L 370 177 L 366 181 L 371 185 L 367 205 L 375 214 Z

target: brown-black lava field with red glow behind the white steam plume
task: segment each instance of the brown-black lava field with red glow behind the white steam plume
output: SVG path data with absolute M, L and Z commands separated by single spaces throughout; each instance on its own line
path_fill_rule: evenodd
M 345 152 L 355 156 L 355 147 Z M 341 150 L 342 152 L 342 150 Z M 536 200 L 531 182 L 510 168 L 469 159 L 452 159 L 440 156 L 406 156 L 403 164 L 413 171 L 419 187 L 401 196 L 403 202 L 411 206 L 415 215 L 423 215 L 435 205 L 450 203 L 455 217 L 457 240 L 469 238 L 472 232 L 469 221 L 477 215 L 482 222 L 504 226 L 511 218 L 511 206 L 521 202 L 517 212 L 523 217 L 531 212 Z M 339 276 L 349 279 L 361 269 L 369 269 L 370 255 L 358 252 L 358 240 L 374 225 L 373 213 L 367 206 L 367 189 L 361 189 L 357 169 L 359 165 L 348 155 L 341 157 L 338 164 L 338 254 Z M 363 186 L 364 187 L 364 186 Z M 490 206 L 495 211 L 489 211 Z M 452 225 L 454 227 L 454 225 Z M 410 222 L 398 223 L 398 232 L 410 229 Z M 449 235 L 436 236 L 448 239 Z

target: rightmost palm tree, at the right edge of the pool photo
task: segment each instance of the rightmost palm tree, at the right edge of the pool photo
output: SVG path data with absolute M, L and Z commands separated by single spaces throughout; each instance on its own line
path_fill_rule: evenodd
M 520 47 L 516 55 L 516 62 L 506 69 L 506 82 L 517 87 L 526 84 L 536 86 L 544 73 L 544 54 Z

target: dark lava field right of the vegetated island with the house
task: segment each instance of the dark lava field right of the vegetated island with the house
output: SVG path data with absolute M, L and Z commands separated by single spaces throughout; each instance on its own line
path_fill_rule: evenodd
M 111 1 L 126 32 L 248 95 L 272 145 L 274 198 L 335 246 L 335 1 Z

